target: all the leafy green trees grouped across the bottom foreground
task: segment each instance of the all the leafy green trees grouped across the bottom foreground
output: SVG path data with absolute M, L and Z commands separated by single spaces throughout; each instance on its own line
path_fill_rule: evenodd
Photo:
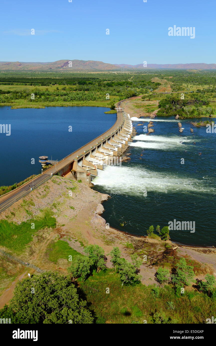
M 157 227 L 159 231 L 159 226 Z M 162 229 L 163 230 L 163 229 Z M 159 231 L 161 234 L 161 231 Z M 100 323 L 103 318 L 95 316 L 91 303 L 87 302 L 85 294 L 82 291 L 82 283 L 89 276 L 94 276 L 98 272 L 106 272 L 106 257 L 104 250 L 98 245 L 88 245 L 85 248 L 86 256 L 77 255 L 73 258 L 69 275 L 60 275 L 54 272 L 44 272 L 38 275 L 32 275 L 30 278 L 18 281 L 14 290 L 14 297 L 8 305 L 0 310 L 1 318 L 10 318 L 12 323 L 39 323 L 39 324 L 92 324 Z M 119 285 L 121 288 L 130 286 L 131 294 L 136 292 L 136 286 L 140 285 L 141 290 L 146 287 L 140 283 L 139 267 L 142 264 L 136 254 L 131 255 L 131 261 L 121 257 L 118 247 L 114 247 L 110 253 L 113 273 L 119 275 Z M 110 269 L 109 269 L 110 270 Z M 77 280 L 78 281 L 77 281 Z M 81 279 L 81 282 L 80 280 Z M 187 290 L 192 284 L 197 299 L 205 300 L 205 305 L 214 306 L 216 302 L 216 281 L 214 275 L 206 274 L 204 280 L 195 280 L 195 273 L 192 265 L 188 265 L 185 258 L 178 258 L 173 265 L 172 271 L 164 266 L 159 266 L 155 280 L 158 285 L 152 285 L 150 290 L 150 299 L 153 301 L 160 296 L 165 299 L 166 309 L 173 312 L 175 303 L 166 301 L 166 290 L 172 290 L 169 294 L 174 298 L 182 299 L 187 297 Z M 79 283 L 79 284 L 78 284 Z M 118 285 L 118 282 L 116 282 Z M 169 286 L 166 286 L 169 284 Z M 123 286 L 124 285 L 124 286 Z M 95 294 L 97 297 L 96 291 Z M 190 290 L 190 296 L 193 294 Z M 96 298 L 97 299 L 97 298 Z M 98 293 L 97 305 L 100 302 L 100 293 Z M 173 299 L 174 300 L 174 299 Z M 198 309 L 197 309 L 198 310 Z M 140 315 L 141 311 L 139 312 Z M 162 311 L 154 310 L 152 317 L 149 317 L 152 323 L 178 323 L 171 319 Z M 102 322 L 104 323 L 104 321 Z M 132 321 L 131 323 L 140 323 Z

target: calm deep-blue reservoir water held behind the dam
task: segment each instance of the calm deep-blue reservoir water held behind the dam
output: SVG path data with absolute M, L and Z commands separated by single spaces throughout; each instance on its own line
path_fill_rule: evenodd
M 0 124 L 11 124 L 11 135 L 0 133 L 0 186 L 41 172 L 38 157 L 61 160 L 109 129 L 116 114 L 104 107 L 0 107 Z M 72 132 L 68 127 L 72 126 Z M 31 164 L 31 159 L 35 164 Z

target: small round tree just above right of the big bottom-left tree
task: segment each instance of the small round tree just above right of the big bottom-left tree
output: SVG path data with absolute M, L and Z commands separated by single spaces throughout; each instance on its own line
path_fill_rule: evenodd
M 73 276 L 73 279 L 75 277 L 81 277 L 82 281 L 85 281 L 86 276 L 90 274 L 93 265 L 94 262 L 91 258 L 77 255 L 71 263 L 71 266 L 68 268 L 68 272 Z

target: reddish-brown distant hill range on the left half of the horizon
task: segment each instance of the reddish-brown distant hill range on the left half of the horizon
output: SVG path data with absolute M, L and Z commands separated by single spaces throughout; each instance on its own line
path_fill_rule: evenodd
M 69 67 L 69 62 L 72 62 L 72 67 Z M 118 67 L 112 64 L 106 64 L 102 61 L 93 60 L 58 60 L 48 63 L 27 63 L 27 62 L 0 62 L 0 70 L 29 70 L 29 71 L 70 71 L 70 70 L 119 70 Z

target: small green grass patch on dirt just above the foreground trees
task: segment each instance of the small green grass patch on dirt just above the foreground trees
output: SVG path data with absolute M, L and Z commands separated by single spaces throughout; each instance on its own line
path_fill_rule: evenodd
M 72 249 L 67 242 L 64 240 L 58 240 L 57 242 L 51 242 L 49 246 L 47 246 L 46 253 L 48 254 L 49 261 L 57 263 L 59 258 L 64 258 L 68 261 L 69 256 L 81 255 L 76 250 Z M 71 262 L 68 262 L 68 266 L 70 266 Z

